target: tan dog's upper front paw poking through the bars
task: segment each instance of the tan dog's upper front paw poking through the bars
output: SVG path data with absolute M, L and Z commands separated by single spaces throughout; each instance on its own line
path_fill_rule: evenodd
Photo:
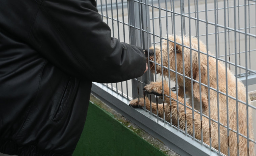
M 149 94 L 163 96 L 163 87 L 161 82 L 151 82 L 150 84 L 144 87 L 144 90 Z

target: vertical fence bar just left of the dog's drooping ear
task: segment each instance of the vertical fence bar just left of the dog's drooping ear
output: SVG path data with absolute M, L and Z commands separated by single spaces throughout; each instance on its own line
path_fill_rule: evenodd
M 188 26 L 189 26 L 189 50 L 190 50 L 190 77 L 191 77 L 191 105 L 192 105 L 192 124 L 193 124 L 193 140 L 195 139 L 195 122 L 194 122 L 194 92 L 193 92 L 193 61 L 191 49 L 191 14 L 190 14 L 190 0 L 188 0 Z

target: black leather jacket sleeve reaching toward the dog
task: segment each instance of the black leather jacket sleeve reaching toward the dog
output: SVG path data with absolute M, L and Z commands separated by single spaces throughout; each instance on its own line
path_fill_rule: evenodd
M 111 37 L 94 0 L 44 0 L 28 41 L 64 72 L 94 82 L 125 81 L 146 69 L 142 49 Z

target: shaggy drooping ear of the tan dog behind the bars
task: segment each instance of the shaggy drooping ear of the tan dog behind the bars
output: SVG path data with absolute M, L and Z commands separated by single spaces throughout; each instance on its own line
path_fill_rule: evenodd
M 207 85 L 207 65 L 205 63 L 201 63 L 201 83 Z M 199 68 L 195 67 L 193 69 L 193 79 L 199 82 Z M 201 98 L 202 98 L 202 105 L 205 107 L 205 109 L 208 108 L 208 88 L 201 85 Z M 200 84 L 197 82 L 193 83 L 193 95 L 194 97 L 200 101 Z

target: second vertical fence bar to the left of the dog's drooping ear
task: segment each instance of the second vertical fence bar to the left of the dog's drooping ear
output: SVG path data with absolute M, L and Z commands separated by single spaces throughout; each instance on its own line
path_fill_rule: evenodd
M 183 17 L 183 3 L 180 0 L 180 5 L 181 5 L 181 45 L 182 45 L 182 74 L 183 74 L 183 93 L 184 93 L 184 113 L 185 113 L 185 135 L 187 135 L 187 120 L 186 120 L 186 85 L 185 85 L 185 61 L 184 61 L 184 32 L 185 29 L 183 30 L 183 22 L 184 22 L 184 17 Z M 184 26 L 185 27 L 185 26 Z

